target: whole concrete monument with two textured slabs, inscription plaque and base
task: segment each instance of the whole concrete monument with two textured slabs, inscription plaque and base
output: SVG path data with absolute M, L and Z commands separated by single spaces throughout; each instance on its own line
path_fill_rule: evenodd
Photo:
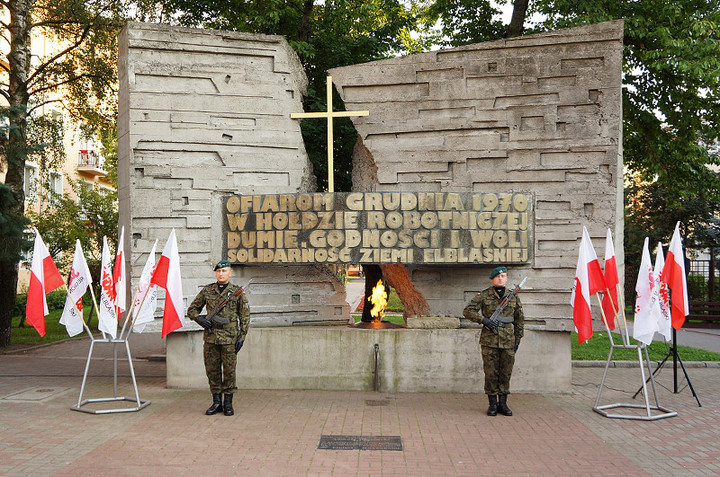
M 431 314 L 452 316 L 509 265 L 511 284 L 528 277 L 513 390 L 569 389 L 582 225 L 598 243 L 613 229 L 622 250 L 622 28 L 330 71 L 347 109 L 369 115 L 353 117 L 353 192 L 326 194 L 290 117 L 305 80 L 281 38 L 128 24 L 118 178 L 133 276 L 175 227 L 186 298 L 220 258 L 252 279 L 240 386 L 372 389 L 379 373 L 383 391 L 478 392 L 478 329 L 297 325 L 347 322 L 328 264 L 400 264 Z M 169 336 L 169 386 L 205 386 L 198 343 Z

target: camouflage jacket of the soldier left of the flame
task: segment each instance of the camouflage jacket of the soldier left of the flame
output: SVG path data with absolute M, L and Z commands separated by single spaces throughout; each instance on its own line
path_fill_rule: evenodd
M 248 327 L 250 326 L 250 306 L 248 305 L 245 292 L 241 291 L 239 295 L 235 293 L 241 288 L 237 285 L 229 283 L 228 286 L 220 294 L 220 288 L 217 283 L 206 285 L 200 290 L 200 293 L 190 303 L 187 309 L 187 317 L 194 320 L 205 307 L 207 313 L 210 313 L 220 300 L 229 296 L 230 301 L 218 312 L 216 316 L 227 318 L 230 323 L 221 325 L 213 322 L 212 333 L 205 330 L 203 338 L 207 343 L 215 344 L 234 344 L 239 338 L 245 339 Z

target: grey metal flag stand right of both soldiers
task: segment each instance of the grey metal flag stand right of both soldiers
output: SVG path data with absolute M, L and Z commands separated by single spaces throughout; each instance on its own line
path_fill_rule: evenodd
M 625 325 L 625 334 L 622 334 L 621 330 L 621 336 L 623 340 L 623 344 L 615 344 L 612 338 L 612 334 L 610 333 L 610 330 L 608 329 L 608 336 L 610 338 L 610 353 L 608 354 L 607 363 L 605 363 L 605 372 L 603 373 L 602 381 L 600 382 L 600 388 L 598 389 L 598 395 L 597 399 L 595 399 L 595 406 L 593 407 L 593 411 L 597 412 L 598 414 L 602 414 L 605 417 L 609 418 L 616 418 L 616 419 L 635 419 L 635 420 L 641 420 L 641 421 L 655 421 L 657 419 L 664 419 L 666 417 L 674 417 L 677 416 L 676 411 L 671 411 L 670 409 L 667 409 L 660 405 L 660 401 L 658 400 L 657 390 L 655 389 L 655 378 L 652 374 L 652 369 L 650 366 L 650 356 L 647 352 L 647 347 L 642 344 L 638 343 L 637 345 L 631 345 L 630 344 L 630 337 L 628 334 L 627 324 Z M 608 369 L 610 368 L 610 362 L 612 361 L 612 355 L 613 351 L 616 349 L 637 349 L 638 351 L 638 364 L 640 365 L 640 373 L 642 374 L 642 391 L 643 396 L 645 397 L 645 404 L 634 404 L 634 403 L 615 403 L 615 404 L 606 404 L 603 406 L 600 406 L 600 398 L 602 396 L 603 387 L 605 386 L 605 378 L 607 377 Z M 642 354 L 645 353 L 645 362 L 643 363 L 643 357 Z M 650 376 L 647 380 L 645 378 L 645 365 L 647 365 L 648 375 Z M 655 405 L 650 405 L 650 400 L 647 392 L 647 382 L 650 382 L 650 386 L 652 387 L 652 393 L 653 397 L 655 399 Z M 617 409 L 617 408 L 633 408 L 633 409 L 645 409 L 646 415 L 633 415 L 633 414 L 613 414 L 610 412 L 607 412 L 608 409 Z M 661 413 L 656 413 L 653 415 L 653 411 L 661 411 Z

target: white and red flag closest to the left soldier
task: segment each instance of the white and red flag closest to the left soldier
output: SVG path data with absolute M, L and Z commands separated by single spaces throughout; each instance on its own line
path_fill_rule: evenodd
M 185 304 L 180 278 L 180 255 L 178 254 L 175 229 L 172 229 L 165 244 L 163 254 L 158 261 L 150 280 L 151 285 L 165 289 L 165 308 L 163 309 L 163 328 L 161 338 L 185 325 Z

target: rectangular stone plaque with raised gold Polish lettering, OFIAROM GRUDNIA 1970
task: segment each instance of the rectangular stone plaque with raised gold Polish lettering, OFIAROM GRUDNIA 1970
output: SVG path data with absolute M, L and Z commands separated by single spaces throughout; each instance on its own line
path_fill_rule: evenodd
M 223 253 L 237 264 L 512 264 L 531 259 L 520 193 L 232 195 Z

